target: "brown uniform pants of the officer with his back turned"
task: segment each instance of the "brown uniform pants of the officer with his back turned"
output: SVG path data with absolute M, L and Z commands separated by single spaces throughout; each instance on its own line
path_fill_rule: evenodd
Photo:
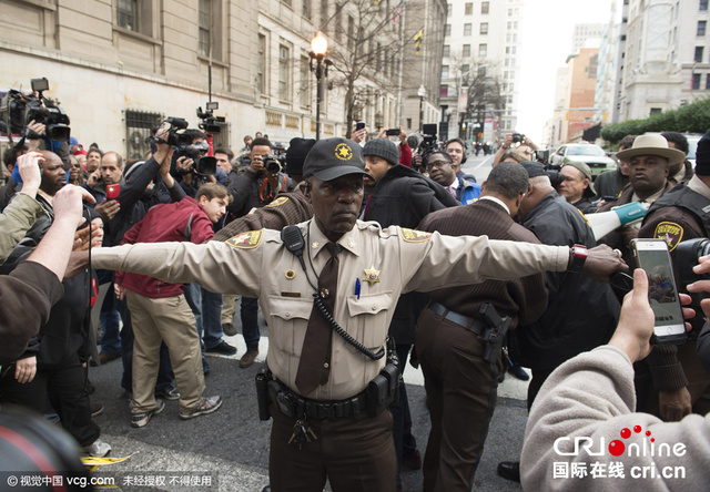
M 496 407 L 500 361 L 484 360 L 474 332 L 428 308 L 417 321 L 415 347 L 432 419 L 424 492 L 468 492 Z

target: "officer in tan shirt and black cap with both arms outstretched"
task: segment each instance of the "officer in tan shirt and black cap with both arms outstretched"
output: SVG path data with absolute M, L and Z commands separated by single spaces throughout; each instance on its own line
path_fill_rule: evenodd
M 285 238 L 262 229 L 224 243 L 120 246 L 92 256 L 97 267 L 199 281 L 214 291 L 260 298 L 270 326 L 267 363 L 274 378 L 270 480 L 275 492 L 321 491 L 326 479 L 336 492 L 395 490 L 386 407 L 396 376 L 382 373 L 389 367 L 382 355 L 403 293 L 570 266 L 584 266 L 598 277 L 626 269 L 606 247 L 590 250 L 585 262 L 567 246 L 382 229 L 358 222 L 366 174 L 361 154 L 359 145 L 345 139 L 313 146 L 303 174 L 314 218 L 287 229 Z M 316 335 L 312 328 L 323 321 L 333 329 L 321 330 L 317 344 L 311 344 Z M 334 332 L 336 326 L 339 331 Z M 316 346 L 326 348 L 325 357 L 307 355 Z M 304 372 L 316 373 L 317 381 Z M 381 393 L 383 379 L 387 385 Z M 375 391 L 368 391 L 371 382 Z

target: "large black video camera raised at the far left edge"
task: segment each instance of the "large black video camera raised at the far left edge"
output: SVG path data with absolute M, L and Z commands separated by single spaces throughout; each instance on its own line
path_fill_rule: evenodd
M 34 120 L 42 123 L 45 134 L 53 141 L 69 141 L 71 129 L 69 127 L 69 116 L 59 102 L 44 98 L 43 92 L 49 90 L 47 78 L 32 79 L 32 91 L 38 95 L 26 95 L 20 91 L 10 89 L 0 102 L 0 117 L 4 121 L 10 142 L 12 134 L 22 135 L 27 139 L 40 139 L 41 136 L 27 127 L 27 124 Z

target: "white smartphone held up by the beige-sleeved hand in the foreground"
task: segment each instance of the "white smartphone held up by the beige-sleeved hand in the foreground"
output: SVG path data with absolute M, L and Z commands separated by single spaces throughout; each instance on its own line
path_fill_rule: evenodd
M 651 344 L 683 344 L 686 324 L 668 245 L 663 239 L 632 239 L 631 254 L 648 277 L 648 300 L 656 316 Z

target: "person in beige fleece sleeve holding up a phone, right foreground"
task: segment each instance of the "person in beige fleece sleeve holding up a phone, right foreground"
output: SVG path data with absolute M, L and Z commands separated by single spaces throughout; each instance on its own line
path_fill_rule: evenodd
M 694 271 L 710 271 L 710 258 L 700 262 Z M 698 291 L 702 287 L 708 290 L 704 281 L 689 286 L 689 290 Z M 687 305 L 690 299 L 681 294 L 681 301 Z M 710 315 L 708 306 L 703 308 L 704 314 Z M 689 318 L 692 310 L 684 308 L 683 315 Z M 689 416 L 681 422 L 666 423 L 648 413 L 633 413 L 632 362 L 649 353 L 653 321 L 648 280 L 645 271 L 637 269 L 633 291 L 623 299 L 621 317 L 609 344 L 568 360 L 542 386 L 525 432 L 521 462 L 525 490 L 690 491 L 707 488 L 710 482 L 708 416 Z M 605 442 L 604 452 L 595 452 L 594 457 L 575 452 L 575 438 L 581 437 L 586 445 L 595 450 Z M 623 439 L 620 453 L 606 452 L 606 443 L 619 437 Z M 627 452 L 623 452 L 625 444 Z M 642 445 L 643 452 L 632 452 L 629 448 L 633 444 Z M 647 445 L 653 444 L 657 452 L 647 452 Z M 669 445 L 669 451 L 661 452 L 661 445 Z M 591 470 L 587 468 L 589 462 Z M 612 476 L 611 463 L 625 474 Z M 576 465 L 585 473 L 559 476 L 560 470 L 569 472 Z M 679 469 L 682 475 L 677 473 Z

